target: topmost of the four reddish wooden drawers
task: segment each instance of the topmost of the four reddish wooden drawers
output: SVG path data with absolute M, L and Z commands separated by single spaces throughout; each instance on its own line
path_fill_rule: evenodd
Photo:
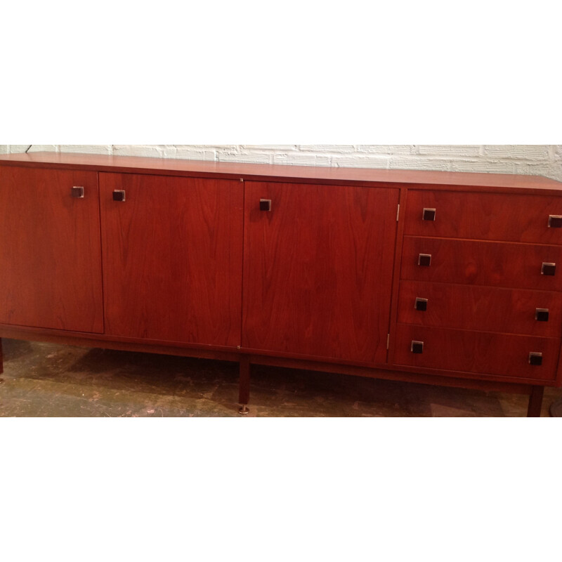
M 424 209 L 428 209 L 426 220 Z M 434 214 L 431 209 L 435 209 Z M 562 244 L 562 221 L 549 221 L 551 215 L 562 216 L 562 197 L 409 190 L 404 232 Z

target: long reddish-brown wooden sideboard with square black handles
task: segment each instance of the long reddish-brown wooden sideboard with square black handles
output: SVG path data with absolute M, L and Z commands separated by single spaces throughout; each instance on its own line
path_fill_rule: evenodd
M 537 416 L 562 382 L 562 183 L 4 155 L 1 337 L 239 362 L 241 413 L 258 364 L 526 393 Z

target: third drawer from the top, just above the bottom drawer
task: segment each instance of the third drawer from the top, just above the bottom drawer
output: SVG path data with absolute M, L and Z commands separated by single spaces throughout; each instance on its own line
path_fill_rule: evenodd
M 421 302 L 416 303 L 416 299 Z M 537 310 L 540 311 L 537 313 Z M 398 322 L 532 336 L 562 336 L 562 294 L 401 281 Z

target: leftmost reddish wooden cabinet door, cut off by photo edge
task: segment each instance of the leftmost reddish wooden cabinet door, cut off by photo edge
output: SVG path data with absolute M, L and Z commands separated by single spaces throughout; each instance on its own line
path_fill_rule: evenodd
M 0 323 L 103 332 L 96 172 L 0 167 Z

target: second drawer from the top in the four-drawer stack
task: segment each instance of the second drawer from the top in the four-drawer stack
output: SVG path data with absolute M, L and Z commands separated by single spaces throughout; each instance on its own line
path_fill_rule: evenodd
M 556 264 L 554 275 L 543 263 Z M 400 279 L 560 291 L 562 247 L 405 236 Z

